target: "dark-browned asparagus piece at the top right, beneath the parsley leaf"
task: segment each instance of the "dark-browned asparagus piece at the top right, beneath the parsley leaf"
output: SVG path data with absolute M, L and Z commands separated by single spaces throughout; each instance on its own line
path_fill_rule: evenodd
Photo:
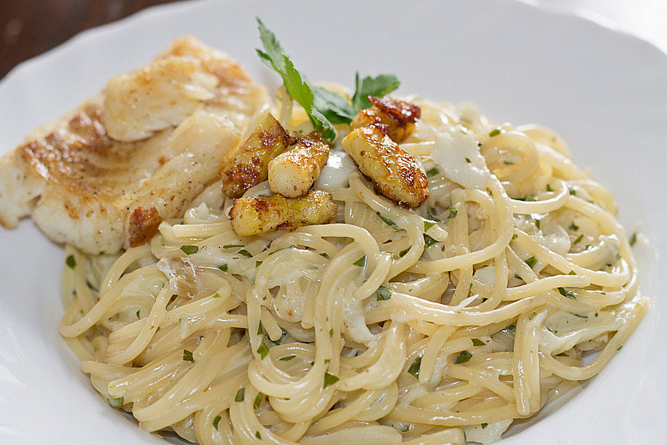
M 373 104 L 360 110 L 349 124 L 350 129 L 380 124 L 386 126 L 387 134 L 396 143 L 402 143 L 415 128 L 419 119 L 420 108 L 402 100 L 385 97 L 368 97 Z

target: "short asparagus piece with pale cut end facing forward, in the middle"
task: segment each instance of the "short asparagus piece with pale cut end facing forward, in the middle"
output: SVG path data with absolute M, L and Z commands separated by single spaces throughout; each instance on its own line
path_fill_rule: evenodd
M 293 140 L 295 143 L 288 151 L 269 163 L 271 191 L 284 197 L 306 195 L 329 159 L 329 145 L 320 133 L 313 131 L 308 136 L 295 134 Z

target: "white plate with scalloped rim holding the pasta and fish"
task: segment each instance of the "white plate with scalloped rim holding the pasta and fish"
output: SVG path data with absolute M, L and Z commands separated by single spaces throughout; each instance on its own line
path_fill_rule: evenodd
M 660 444 L 667 415 L 661 314 L 667 271 L 667 56 L 579 17 L 497 1 L 201 1 L 151 8 L 81 33 L 23 63 L 0 83 L 0 152 L 192 33 L 276 79 L 255 55 L 254 16 L 310 79 L 351 84 L 395 72 L 402 92 L 476 102 L 497 122 L 541 122 L 573 148 L 620 204 L 639 248 L 652 307 L 614 360 L 559 410 L 502 444 Z M 58 335 L 63 251 L 30 221 L 0 229 L 0 443 L 159 444 L 111 410 Z

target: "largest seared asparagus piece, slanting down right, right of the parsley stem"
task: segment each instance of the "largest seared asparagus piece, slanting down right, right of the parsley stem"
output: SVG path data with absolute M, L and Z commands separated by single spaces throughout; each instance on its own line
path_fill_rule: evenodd
M 429 199 L 429 181 L 417 161 L 381 125 L 355 129 L 343 139 L 343 148 L 377 193 L 401 207 L 419 207 Z

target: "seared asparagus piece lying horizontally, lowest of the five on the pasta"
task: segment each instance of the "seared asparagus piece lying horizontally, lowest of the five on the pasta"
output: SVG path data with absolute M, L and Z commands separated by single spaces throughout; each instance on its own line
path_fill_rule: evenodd
M 249 236 L 329 223 L 336 217 L 337 210 L 331 194 L 313 190 L 297 198 L 281 195 L 241 197 L 234 201 L 229 218 L 234 233 Z

